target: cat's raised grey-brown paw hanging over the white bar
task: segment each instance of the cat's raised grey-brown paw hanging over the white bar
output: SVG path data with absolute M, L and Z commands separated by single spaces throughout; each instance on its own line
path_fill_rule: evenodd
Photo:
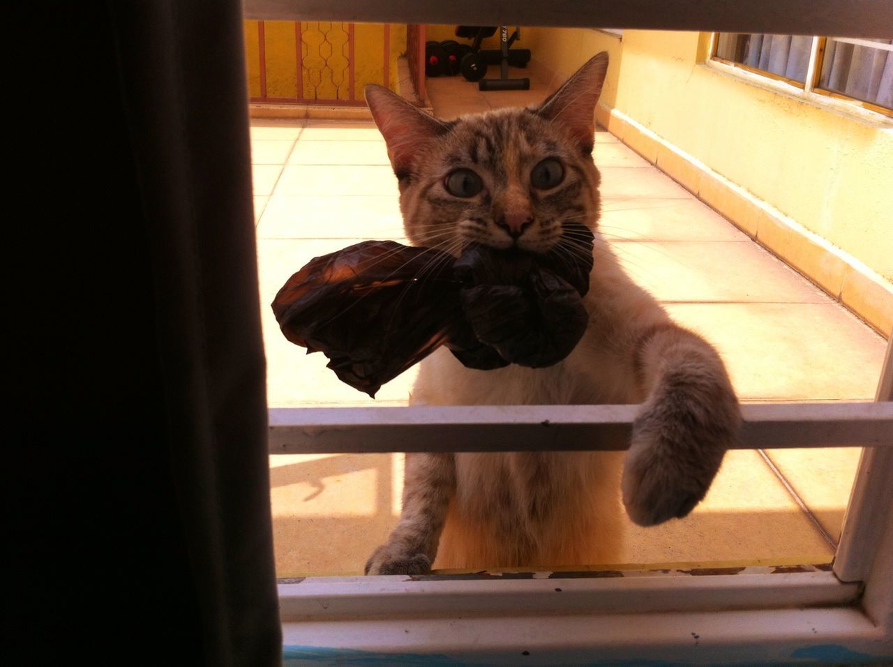
M 737 420 L 705 426 L 693 415 L 646 411 L 633 423 L 623 464 L 623 504 L 639 526 L 689 514 L 707 493 L 732 444 Z

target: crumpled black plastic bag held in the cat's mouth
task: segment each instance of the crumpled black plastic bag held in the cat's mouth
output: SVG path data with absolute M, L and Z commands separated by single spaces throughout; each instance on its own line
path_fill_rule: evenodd
M 325 354 L 338 379 L 372 397 L 441 345 L 469 368 L 541 368 L 586 330 L 592 246 L 582 225 L 565 225 L 547 254 L 471 244 L 456 259 L 363 241 L 313 258 L 272 310 L 289 341 Z

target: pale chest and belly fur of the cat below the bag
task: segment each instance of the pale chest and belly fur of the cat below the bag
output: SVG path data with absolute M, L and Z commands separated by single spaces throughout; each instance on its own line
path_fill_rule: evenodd
M 446 348 L 423 360 L 413 404 L 634 403 L 632 338 L 623 322 L 653 303 L 603 256 L 585 298 L 590 324 L 562 362 L 541 369 L 465 368 Z M 618 287 L 621 287 L 619 290 Z M 622 453 L 454 454 L 455 497 L 438 567 L 597 563 L 617 556 Z M 496 537 L 496 539 L 494 539 Z

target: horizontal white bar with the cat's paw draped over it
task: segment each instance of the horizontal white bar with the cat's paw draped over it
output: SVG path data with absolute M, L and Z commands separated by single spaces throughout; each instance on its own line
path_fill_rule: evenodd
M 271 408 L 271 454 L 619 451 L 637 405 Z M 744 404 L 736 449 L 893 448 L 893 403 Z

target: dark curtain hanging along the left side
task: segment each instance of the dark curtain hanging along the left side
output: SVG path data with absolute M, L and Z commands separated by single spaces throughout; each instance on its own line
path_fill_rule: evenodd
M 241 4 L 7 30 L 6 650 L 280 663 Z

